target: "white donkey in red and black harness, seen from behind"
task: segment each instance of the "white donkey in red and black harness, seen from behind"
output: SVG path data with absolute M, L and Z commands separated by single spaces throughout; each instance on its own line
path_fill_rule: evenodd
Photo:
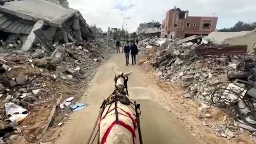
M 124 86 L 127 82 L 125 78 L 133 71 L 122 73 L 116 69 L 113 70 L 116 74 L 116 89 L 110 96 L 110 99 L 113 99 L 112 103 L 106 104 L 100 118 L 99 144 L 139 144 L 134 106 L 115 101 L 116 95 L 119 95 L 119 97 L 122 95 L 128 99 L 122 92 L 124 92 Z

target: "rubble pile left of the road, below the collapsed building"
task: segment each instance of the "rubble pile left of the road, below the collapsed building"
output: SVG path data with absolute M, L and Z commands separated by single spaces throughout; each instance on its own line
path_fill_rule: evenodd
M 13 129 L 11 134 L 1 136 L 2 142 L 14 140 L 13 134 L 15 140 L 19 134 L 24 137 L 18 140 L 47 141 L 42 134 L 71 112 L 69 108 L 59 109 L 59 103 L 71 95 L 77 99 L 77 93 L 92 78 L 96 67 L 114 50 L 102 39 L 79 45 L 55 45 L 53 52 L 38 46 L 31 51 L 0 54 L 0 114 L 4 120 L 0 131 Z M 52 111 L 55 114 L 49 116 Z M 56 113 L 59 119 L 55 118 Z

